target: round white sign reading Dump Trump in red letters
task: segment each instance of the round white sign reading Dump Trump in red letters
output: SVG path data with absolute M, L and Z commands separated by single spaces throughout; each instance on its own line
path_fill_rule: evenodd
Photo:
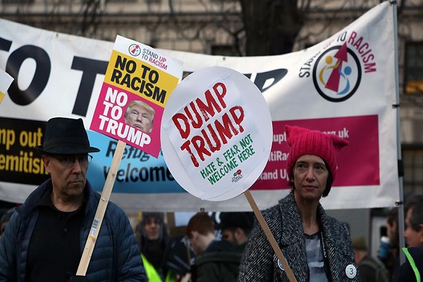
M 187 192 L 222 201 L 259 178 L 272 134 L 262 92 L 242 73 L 215 66 L 191 73 L 173 90 L 164 108 L 161 149 Z

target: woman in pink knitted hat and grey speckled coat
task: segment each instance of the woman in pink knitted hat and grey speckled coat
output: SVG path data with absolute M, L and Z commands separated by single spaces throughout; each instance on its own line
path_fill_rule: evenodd
M 331 190 L 336 153 L 348 142 L 333 134 L 286 125 L 289 185 L 279 203 L 262 212 L 297 281 L 360 281 L 345 224 L 319 202 Z M 289 281 L 261 226 L 245 247 L 238 281 Z

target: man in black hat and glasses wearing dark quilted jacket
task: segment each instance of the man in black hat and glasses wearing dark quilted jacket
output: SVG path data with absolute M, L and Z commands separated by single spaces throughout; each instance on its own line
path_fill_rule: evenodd
M 100 195 L 86 179 L 90 146 L 82 119 L 47 122 L 42 161 L 50 178 L 16 209 L 0 243 L 0 281 L 72 281 Z M 86 280 L 85 280 L 86 278 Z M 145 281 L 125 212 L 109 202 L 86 275 L 78 281 Z

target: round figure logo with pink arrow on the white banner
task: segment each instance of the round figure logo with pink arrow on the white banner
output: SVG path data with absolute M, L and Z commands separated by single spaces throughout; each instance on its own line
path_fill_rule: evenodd
M 319 56 L 313 68 L 317 92 L 331 102 L 342 102 L 357 91 L 362 69 L 357 55 L 347 47 L 331 47 Z

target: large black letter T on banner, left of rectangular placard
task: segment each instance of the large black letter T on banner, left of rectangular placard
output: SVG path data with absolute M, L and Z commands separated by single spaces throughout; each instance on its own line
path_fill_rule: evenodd
M 72 114 L 86 116 L 88 104 L 90 104 L 95 76 L 106 74 L 108 61 L 98 61 L 75 56 L 73 57 L 72 69 L 82 71 L 82 78 Z

